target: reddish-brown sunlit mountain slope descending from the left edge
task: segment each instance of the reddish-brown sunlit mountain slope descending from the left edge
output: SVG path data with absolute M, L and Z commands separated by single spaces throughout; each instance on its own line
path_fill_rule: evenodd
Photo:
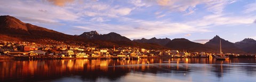
M 19 19 L 9 15 L 0 16 L 0 34 L 25 39 L 54 39 L 54 40 L 86 40 L 66 35 L 58 31 L 38 27 L 33 24 L 23 23 Z

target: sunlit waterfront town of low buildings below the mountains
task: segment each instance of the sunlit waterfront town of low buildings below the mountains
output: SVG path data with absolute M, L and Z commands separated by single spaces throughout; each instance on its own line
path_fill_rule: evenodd
M 59 42 L 60 43 L 60 42 Z M 178 50 L 146 50 L 137 47 L 99 48 L 97 46 L 43 45 L 31 42 L 0 42 L 0 59 L 123 59 L 212 58 L 219 53 Z M 255 58 L 255 54 L 225 53 L 230 58 Z

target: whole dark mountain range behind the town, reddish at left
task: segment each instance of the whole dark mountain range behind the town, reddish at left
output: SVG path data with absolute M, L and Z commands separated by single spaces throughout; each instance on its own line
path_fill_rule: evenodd
M 246 38 L 240 42 L 231 43 L 228 40 L 215 36 L 205 44 L 191 42 L 185 38 L 151 38 L 131 40 L 115 32 L 99 34 L 97 31 L 83 32 L 81 35 L 67 35 L 58 31 L 38 27 L 33 24 L 23 23 L 9 15 L 0 16 L 0 38 L 10 41 L 27 41 L 49 44 L 47 40 L 57 40 L 66 44 L 97 44 L 100 47 L 130 46 L 141 48 L 170 48 L 171 50 L 187 50 L 190 52 L 219 53 L 220 40 L 223 53 L 256 53 L 256 41 Z M 42 40 L 47 39 L 47 40 Z

